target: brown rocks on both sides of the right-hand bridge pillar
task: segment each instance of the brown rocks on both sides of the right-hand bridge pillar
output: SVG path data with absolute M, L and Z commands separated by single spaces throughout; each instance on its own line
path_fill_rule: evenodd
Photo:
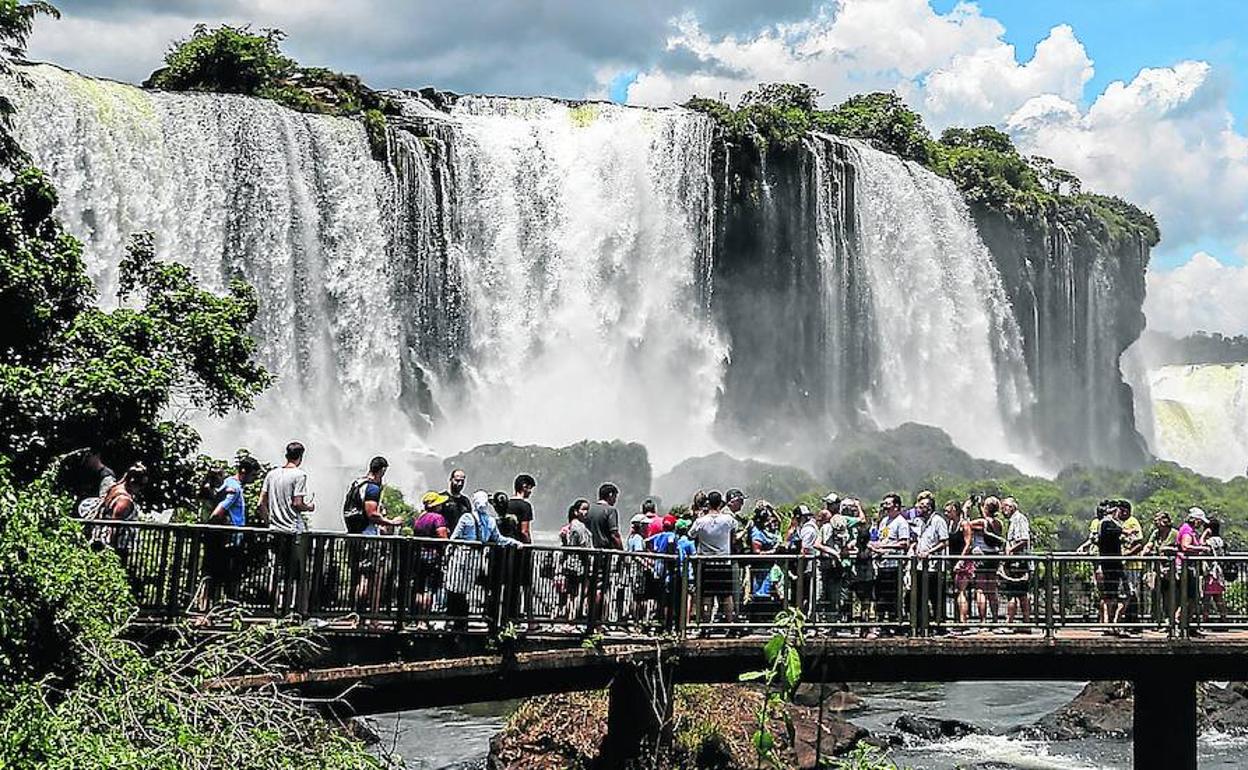
M 1129 681 L 1092 681 L 1075 699 L 1023 730 L 1048 740 L 1129 738 L 1134 708 Z M 1197 724 L 1203 730 L 1248 731 L 1248 683 L 1197 685 Z

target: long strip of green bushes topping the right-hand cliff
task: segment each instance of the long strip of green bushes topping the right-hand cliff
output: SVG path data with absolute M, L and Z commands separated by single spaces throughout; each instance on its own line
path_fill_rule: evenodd
M 811 131 L 871 144 L 950 178 L 966 200 L 1010 217 L 1060 216 L 1103 231 L 1107 240 L 1161 240 L 1152 215 L 1116 197 L 1086 193 L 1080 180 L 1045 157 L 1025 157 L 1010 137 L 992 127 L 947 129 L 932 140 L 922 117 L 896 94 L 851 96 L 820 110 L 820 92 L 805 84 L 765 84 L 741 97 L 736 109 L 694 97 L 685 107 L 714 119 L 730 141 L 761 150 L 791 147 Z

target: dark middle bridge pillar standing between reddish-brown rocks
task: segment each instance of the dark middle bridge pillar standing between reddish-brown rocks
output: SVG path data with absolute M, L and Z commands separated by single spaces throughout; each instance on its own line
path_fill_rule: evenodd
M 598 770 L 623 770 L 671 744 L 674 679 L 671 664 L 658 656 L 620 666 L 609 690 L 607 738 L 598 754 Z

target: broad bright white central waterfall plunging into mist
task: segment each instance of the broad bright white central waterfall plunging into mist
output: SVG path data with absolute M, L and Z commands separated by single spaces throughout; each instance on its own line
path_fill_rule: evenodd
M 622 438 L 660 465 L 711 449 L 711 122 L 493 97 L 449 121 L 470 343 L 434 443 Z

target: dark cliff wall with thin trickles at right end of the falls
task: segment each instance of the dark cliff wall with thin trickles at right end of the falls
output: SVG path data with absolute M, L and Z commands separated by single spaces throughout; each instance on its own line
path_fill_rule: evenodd
M 1151 245 L 1090 211 L 1032 220 L 972 212 L 1023 334 L 1043 446 L 1065 462 L 1143 464 L 1148 452 L 1118 359 L 1144 328 Z

